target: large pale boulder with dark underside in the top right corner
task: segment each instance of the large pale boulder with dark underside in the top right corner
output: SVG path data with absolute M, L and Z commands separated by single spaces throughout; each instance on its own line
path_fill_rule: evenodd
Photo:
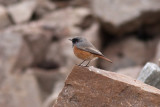
M 93 14 L 100 20 L 103 28 L 115 35 L 122 36 L 125 33 L 133 32 L 142 24 L 145 26 L 156 24 L 160 18 L 158 13 L 160 2 L 158 0 L 123 0 L 123 2 L 92 0 L 91 4 Z M 152 16 L 152 18 L 148 16 Z

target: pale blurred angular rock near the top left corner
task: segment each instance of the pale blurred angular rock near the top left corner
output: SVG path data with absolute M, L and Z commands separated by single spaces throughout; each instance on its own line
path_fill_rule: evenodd
M 23 1 L 8 7 L 8 11 L 16 24 L 29 21 L 36 8 L 35 1 Z

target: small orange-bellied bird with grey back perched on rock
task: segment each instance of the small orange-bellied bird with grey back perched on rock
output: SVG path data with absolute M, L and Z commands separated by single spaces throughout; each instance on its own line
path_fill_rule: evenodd
M 72 47 L 75 56 L 83 60 L 78 66 L 81 66 L 85 61 L 88 61 L 88 63 L 85 65 L 86 67 L 88 67 L 90 62 L 96 58 L 101 58 L 112 63 L 110 59 L 106 58 L 86 38 L 78 36 L 69 40 L 72 41 Z

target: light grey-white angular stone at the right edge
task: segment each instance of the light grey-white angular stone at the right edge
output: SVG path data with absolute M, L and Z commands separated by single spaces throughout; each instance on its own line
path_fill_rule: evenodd
M 160 68 L 154 63 L 147 63 L 140 72 L 137 80 L 160 89 Z

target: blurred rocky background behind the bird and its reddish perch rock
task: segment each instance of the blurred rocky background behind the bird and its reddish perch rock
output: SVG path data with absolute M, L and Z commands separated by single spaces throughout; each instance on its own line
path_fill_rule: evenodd
M 160 58 L 160 1 L 0 0 L 1 107 L 51 107 L 81 62 L 74 36 L 113 61 L 90 65 L 137 78 Z

